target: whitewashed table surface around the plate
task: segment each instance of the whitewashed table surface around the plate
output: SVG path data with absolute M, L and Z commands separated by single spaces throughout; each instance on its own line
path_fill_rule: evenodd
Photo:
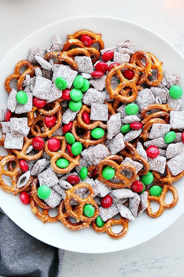
M 0 0 L 0 60 L 17 42 L 40 27 L 81 15 L 133 21 L 160 34 L 184 54 L 183 14 L 182 0 Z M 183 226 L 184 215 L 154 239 L 115 253 L 65 251 L 60 276 L 184 276 Z

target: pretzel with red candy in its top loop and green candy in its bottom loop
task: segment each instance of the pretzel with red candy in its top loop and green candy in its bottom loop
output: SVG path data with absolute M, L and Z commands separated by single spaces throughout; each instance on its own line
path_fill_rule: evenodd
M 56 173 L 68 173 L 70 172 L 75 166 L 80 165 L 79 163 L 79 159 L 80 159 L 80 155 L 75 156 L 75 158 L 71 157 L 69 154 L 66 153 L 66 148 L 67 148 L 67 142 L 65 140 L 65 138 L 63 136 L 55 136 L 54 138 L 59 139 L 59 141 L 61 141 L 61 148 L 59 151 L 54 152 L 54 151 L 50 151 L 48 149 L 48 141 L 46 141 L 45 143 L 45 152 L 51 157 L 51 166 L 53 168 L 53 170 Z M 59 168 L 56 165 L 56 162 L 58 159 L 60 158 L 64 158 L 69 162 L 69 165 L 65 168 Z

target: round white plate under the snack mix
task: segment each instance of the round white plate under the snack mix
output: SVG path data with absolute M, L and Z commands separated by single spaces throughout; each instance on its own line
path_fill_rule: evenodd
M 64 42 L 67 34 L 77 30 L 92 30 L 102 33 L 105 48 L 115 46 L 126 38 L 131 38 L 136 50 L 149 51 L 163 61 L 163 69 L 181 74 L 181 86 L 184 85 L 184 57 L 169 42 L 158 34 L 138 24 L 111 17 L 87 16 L 61 20 L 45 26 L 19 42 L 0 62 L 1 104 L 6 103 L 8 93 L 4 89 L 6 77 L 13 73 L 14 67 L 22 59 L 28 59 L 30 47 L 48 47 L 54 35 L 59 35 Z M 1 147 L 1 155 L 5 155 Z M 152 219 L 146 212 L 129 222 L 129 229 L 124 238 L 111 239 L 106 233 L 96 233 L 92 228 L 71 231 L 61 222 L 43 224 L 37 219 L 29 205 L 23 205 L 19 196 L 0 190 L 0 206 L 19 227 L 37 239 L 69 251 L 82 253 L 107 253 L 120 251 L 144 243 L 166 230 L 184 212 L 183 179 L 174 183 L 178 190 L 179 201 L 170 210 L 165 210 L 159 218 Z

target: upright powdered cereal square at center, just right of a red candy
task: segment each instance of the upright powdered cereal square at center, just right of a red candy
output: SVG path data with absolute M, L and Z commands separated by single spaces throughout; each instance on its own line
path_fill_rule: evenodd
M 108 105 L 100 103 L 91 103 L 90 119 L 108 121 Z

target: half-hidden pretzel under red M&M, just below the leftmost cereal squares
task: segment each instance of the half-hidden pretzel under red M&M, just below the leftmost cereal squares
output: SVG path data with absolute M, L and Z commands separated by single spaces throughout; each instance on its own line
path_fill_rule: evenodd
M 39 159 L 43 155 L 44 149 L 39 150 L 34 155 L 25 154 L 28 147 L 30 145 L 32 145 L 32 140 L 33 139 L 29 139 L 28 137 L 24 137 L 24 144 L 23 144 L 22 149 L 21 150 L 12 149 L 13 153 L 17 156 L 17 159 L 24 159 L 26 161 L 34 161 L 34 160 Z

